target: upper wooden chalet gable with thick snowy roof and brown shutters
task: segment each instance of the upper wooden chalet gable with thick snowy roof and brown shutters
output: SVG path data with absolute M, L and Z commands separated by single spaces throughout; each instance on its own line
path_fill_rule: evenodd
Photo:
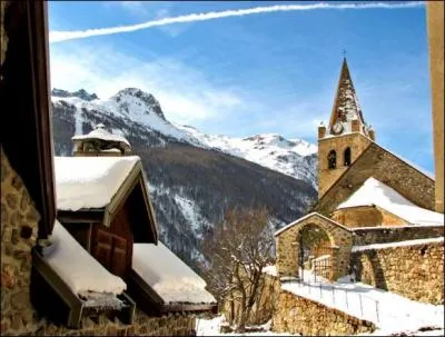
M 128 278 L 134 242 L 158 231 L 137 156 L 56 157 L 58 219 L 110 272 Z

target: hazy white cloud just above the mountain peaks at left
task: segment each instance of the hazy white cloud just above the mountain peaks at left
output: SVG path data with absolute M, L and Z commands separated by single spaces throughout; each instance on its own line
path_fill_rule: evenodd
M 218 88 L 204 73 L 174 59 L 141 61 L 109 48 L 51 47 L 51 86 L 80 88 L 108 98 L 136 87 L 152 93 L 171 121 L 194 123 L 211 120 L 245 108 L 234 88 Z

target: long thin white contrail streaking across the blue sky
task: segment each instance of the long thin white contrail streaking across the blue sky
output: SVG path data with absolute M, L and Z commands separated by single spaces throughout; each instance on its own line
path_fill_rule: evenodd
M 248 9 L 224 10 L 219 12 L 192 13 L 174 18 L 164 18 L 159 20 L 152 20 L 130 26 L 119 26 L 119 27 L 75 30 L 75 31 L 50 31 L 49 41 L 50 43 L 55 43 L 73 39 L 83 39 L 89 37 L 109 36 L 121 32 L 136 31 L 136 30 L 148 29 L 151 27 L 159 27 L 171 23 L 207 21 L 214 19 L 244 17 L 250 14 L 271 13 L 279 11 L 305 11 L 305 10 L 317 10 L 317 9 L 376 9 L 376 8 L 396 9 L 396 8 L 416 8 L 422 6 L 424 6 L 423 1 L 412 1 L 402 3 L 368 2 L 368 3 L 335 4 L 335 3 L 320 2 L 312 4 L 275 4 L 275 6 L 256 7 Z

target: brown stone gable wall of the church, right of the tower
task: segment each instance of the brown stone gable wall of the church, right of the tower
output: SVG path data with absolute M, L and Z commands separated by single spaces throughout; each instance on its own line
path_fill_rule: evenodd
M 435 182 L 397 156 L 372 142 L 314 207 L 327 217 L 369 177 L 382 181 L 415 205 L 435 209 Z

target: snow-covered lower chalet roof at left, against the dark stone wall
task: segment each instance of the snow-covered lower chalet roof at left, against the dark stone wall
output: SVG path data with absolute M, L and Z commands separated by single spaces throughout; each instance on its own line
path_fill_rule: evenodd
M 109 272 L 56 220 L 53 244 L 43 248 L 43 259 L 75 294 L 121 294 L 127 285 Z

